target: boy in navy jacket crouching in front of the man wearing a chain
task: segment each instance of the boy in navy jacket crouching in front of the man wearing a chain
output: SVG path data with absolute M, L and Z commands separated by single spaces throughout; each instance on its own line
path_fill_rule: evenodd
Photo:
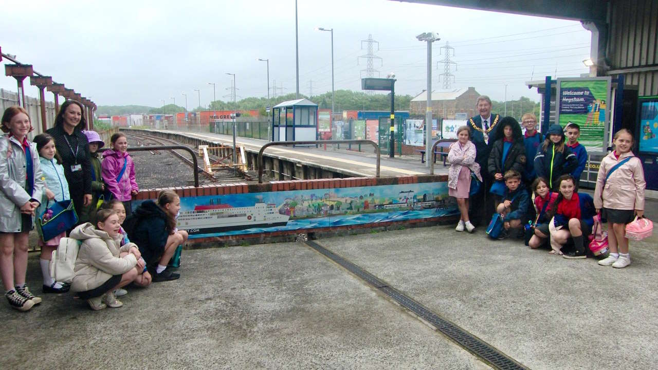
M 503 215 L 503 232 L 499 239 L 507 238 L 509 229 L 515 228 L 523 230 L 524 223 L 528 221 L 526 213 L 528 211 L 528 192 L 520 186 L 521 174 L 514 170 L 505 172 L 505 197 L 497 205 L 496 212 Z

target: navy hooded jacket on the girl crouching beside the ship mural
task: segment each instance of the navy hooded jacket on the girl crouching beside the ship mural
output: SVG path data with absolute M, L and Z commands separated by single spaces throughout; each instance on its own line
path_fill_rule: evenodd
M 143 201 L 123 223 L 128 239 L 139 246 L 147 266 L 156 263 L 164 253 L 171 232 L 166 225 L 166 213 L 152 200 Z

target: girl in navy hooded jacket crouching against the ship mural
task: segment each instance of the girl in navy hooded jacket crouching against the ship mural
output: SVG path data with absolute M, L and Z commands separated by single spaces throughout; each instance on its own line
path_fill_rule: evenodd
M 176 228 L 180 198 L 171 190 L 163 190 L 157 203 L 147 200 L 124 222 L 128 238 L 139 246 L 153 282 L 176 280 L 166 265 L 179 245 L 188 240 L 188 232 Z

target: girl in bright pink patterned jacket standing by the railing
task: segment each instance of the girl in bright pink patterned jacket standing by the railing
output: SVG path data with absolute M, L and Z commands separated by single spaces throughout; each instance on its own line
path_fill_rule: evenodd
M 135 180 L 135 164 L 128 154 L 128 139 L 126 135 L 117 132 L 110 138 L 112 149 L 103 153 L 101 173 L 107 186 L 107 192 L 112 198 L 124 203 L 126 216 L 132 213 L 131 199 L 139 190 Z M 109 200 L 109 199 L 105 199 Z

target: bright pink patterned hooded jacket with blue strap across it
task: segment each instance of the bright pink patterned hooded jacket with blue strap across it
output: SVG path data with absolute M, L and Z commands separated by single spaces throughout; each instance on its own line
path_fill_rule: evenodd
M 124 161 L 126 161 L 126 171 L 124 171 L 121 178 L 116 181 L 116 178 L 123 169 Z M 120 201 L 129 201 L 132 199 L 130 192 L 132 190 L 139 190 L 137 181 L 135 180 L 135 164 L 128 152 L 121 153 L 112 149 L 103 152 L 103 162 L 101 163 L 101 174 L 107 190 L 112 193 L 116 199 Z

